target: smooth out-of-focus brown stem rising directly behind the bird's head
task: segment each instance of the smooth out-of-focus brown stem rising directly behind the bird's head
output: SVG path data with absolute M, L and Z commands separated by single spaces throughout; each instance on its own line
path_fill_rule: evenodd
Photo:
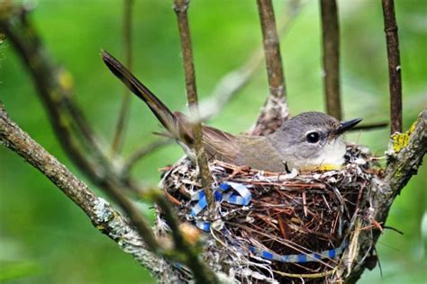
M 323 35 L 323 73 L 326 111 L 342 119 L 340 92 L 340 22 L 336 0 L 320 0 Z

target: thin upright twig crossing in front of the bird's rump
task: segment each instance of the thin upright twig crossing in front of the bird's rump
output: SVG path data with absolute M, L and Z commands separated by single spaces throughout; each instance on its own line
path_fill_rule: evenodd
M 177 13 L 177 24 L 179 37 L 181 40 L 181 50 L 184 60 L 184 71 L 186 75 L 186 98 L 190 116 L 193 118 L 200 117 L 197 105 L 197 92 L 195 88 L 195 66 L 193 63 L 193 49 L 191 45 L 190 28 L 188 26 L 187 9 L 188 0 L 174 0 L 174 10 Z M 203 146 L 202 123 L 197 121 L 193 124 L 193 133 L 195 137 L 195 154 L 197 156 L 197 165 L 200 168 L 202 186 L 206 193 L 206 199 L 209 209 L 213 212 L 214 198 L 212 191 L 212 175 L 209 170 L 209 164 Z

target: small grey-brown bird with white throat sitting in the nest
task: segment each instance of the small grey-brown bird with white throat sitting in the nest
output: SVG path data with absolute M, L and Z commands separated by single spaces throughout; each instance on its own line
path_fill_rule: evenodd
M 148 105 L 168 131 L 168 136 L 175 138 L 186 155 L 195 160 L 195 139 L 188 117 L 179 111 L 170 111 L 110 53 L 102 50 L 101 57 L 106 67 Z M 211 160 L 249 166 L 259 171 L 340 169 L 346 154 L 342 134 L 360 121 L 339 121 L 323 112 L 306 111 L 284 120 L 280 128 L 267 136 L 233 135 L 203 126 L 203 145 Z

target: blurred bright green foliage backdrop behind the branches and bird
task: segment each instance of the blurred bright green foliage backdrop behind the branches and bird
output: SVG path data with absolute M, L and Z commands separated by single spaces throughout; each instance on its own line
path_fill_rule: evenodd
M 3 0 L 0 0 L 0 4 Z M 17 2 L 22 3 L 22 2 Z M 111 141 L 123 85 L 104 67 L 100 49 L 123 58 L 123 1 L 40 0 L 35 22 L 52 57 L 73 75 L 74 96 L 98 134 Z M 134 70 L 172 110 L 185 107 L 184 75 L 172 1 L 135 0 Z M 286 18 L 288 1 L 276 1 L 277 22 Z M 339 1 L 341 78 L 345 118 L 366 122 L 388 118 L 386 43 L 380 1 Z M 404 129 L 427 106 L 427 1 L 397 0 L 404 85 Z M 189 20 L 194 43 L 199 96 L 209 96 L 227 72 L 240 67 L 261 42 L 255 1 L 193 1 Z M 306 1 L 281 38 L 288 102 L 293 114 L 323 111 L 319 4 Z M 268 93 L 265 70 L 210 124 L 237 133 L 250 128 Z M 32 138 L 83 178 L 68 160 L 50 128 L 32 80 L 12 45 L 0 46 L 0 100 Z M 132 113 L 123 155 L 148 144 L 159 130 L 150 111 L 132 97 Z M 348 136 L 383 155 L 388 129 Z M 133 170 L 143 182 L 159 182 L 158 168 L 182 155 L 167 146 Z M 427 168 L 395 200 L 377 251 L 383 268 L 367 271 L 360 283 L 425 282 L 427 271 Z M 93 187 L 93 186 L 92 186 Z M 93 187 L 94 188 L 94 187 Z M 95 188 L 94 188 L 95 189 Z M 95 191 L 97 191 L 95 189 Z M 100 193 L 99 191 L 97 191 Z M 100 193 L 101 194 L 101 193 Z M 152 214 L 149 206 L 144 213 Z M 99 234 L 72 202 L 41 173 L 0 147 L 0 282 L 7 283 L 150 283 L 130 255 Z

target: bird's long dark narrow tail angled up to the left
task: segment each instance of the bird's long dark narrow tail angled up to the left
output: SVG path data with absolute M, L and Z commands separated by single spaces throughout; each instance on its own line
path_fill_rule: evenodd
M 179 120 L 177 116 L 168 109 L 168 107 L 161 102 L 154 93 L 151 93 L 149 88 L 142 84 L 131 71 L 123 66 L 116 58 L 105 50 L 101 51 L 101 56 L 105 65 L 113 72 L 113 74 L 122 80 L 132 93 L 136 94 L 142 101 L 147 103 L 150 110 L 158 118 L 160 123 L 168 130 L 168 132 L 186 144 L 191 143 L 191 135 L 188 133 L 186 127 L 183 127 L 183 121 Z

